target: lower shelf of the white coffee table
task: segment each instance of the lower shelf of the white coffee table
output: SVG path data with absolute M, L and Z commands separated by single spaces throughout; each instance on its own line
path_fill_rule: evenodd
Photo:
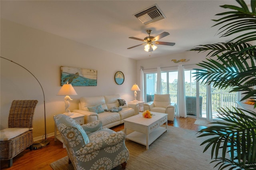
M 148 146 L 152 144 L 161 134 L 166 132 L 167 129 L 165 127 L 158 127 L 154 129 L 150 134 L 148 134 Z M 141 132 L 134 131 L 128 135 L 126 135 L 126 139 L 132 140 L 134 142 L 143 144 L 147 146 L 147 135 Z M 148 148 L 147 148 L 148 149 Z

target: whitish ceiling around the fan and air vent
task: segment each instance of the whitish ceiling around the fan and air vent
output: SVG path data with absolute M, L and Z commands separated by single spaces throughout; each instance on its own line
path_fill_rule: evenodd
M 149 25 L 142 24 L 137 12 L 157 4 L 166 18 Z M 62 36 L 76 42 L 98 47 L 132 59 L 161 57 L 180 53 L 200 44 L 226 42 L 212 27 L 215 14 L 224 12 L 224 4 L 238 5 L 235 0 L 56 0 L 0 1 L 1 18 L 38 30 Z M 174 46 L 157 45 L 151 54 L 143 43 L 128 37 L 144 39 L 170 33 L 159 41 L 175 42 Z

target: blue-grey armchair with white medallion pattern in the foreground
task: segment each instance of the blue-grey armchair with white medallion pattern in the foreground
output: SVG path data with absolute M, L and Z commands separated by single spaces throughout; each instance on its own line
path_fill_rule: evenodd
M 54 121 L 75 170 L 111 170 L 120 164 L 125 169 L 129 151 L 124 132 L 102 128 L 101 121 L 81 126 L 62 114 L 54 116 Z

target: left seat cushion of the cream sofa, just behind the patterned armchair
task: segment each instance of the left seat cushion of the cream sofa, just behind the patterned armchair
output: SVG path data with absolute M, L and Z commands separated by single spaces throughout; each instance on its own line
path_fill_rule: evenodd
M 120 122 L 120 115 L 117 112 L 104 112 L 98 115 L 99 120 L 102 122 L 102 126 L 108 125 L 114 122 Z

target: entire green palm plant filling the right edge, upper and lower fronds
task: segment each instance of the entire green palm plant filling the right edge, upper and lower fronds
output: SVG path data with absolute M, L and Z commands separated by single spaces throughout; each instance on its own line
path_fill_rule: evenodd
M 252 86 L 256 85 L 256 45 L 250 42 L 256 42 L 256 1 L 251 0 L 251 10 L 243 0 L 236 2 L 240 7 L 221 6 L 231 11 L 217 14 L 222 18 L 214 20 L 218 22 L 214 26 L 223 24 L 218 30 L 220 37 L 241 35 L 227 43 L 199 45 L 190 51 L 208 51 L 207 61 L 198 64 L 203 69 L 196 69 L 199 71 L 195 75 L 198 81 L 206 80 L 206 84 L 218 88 L 231 87 L 230 92 L 241 91 L 244 94 L 241 101 L 254 100 L 256 89 Z M 211 136 L 201 144 L 206 144 L 204 151 L 212 146 L 211 155 L 215 158 L 212 162 L 217 161 L 219 169 L 255 169 L 256 113 L 238 108 L 234 111 L 221 108 L 218 113 L 224 122 L 213 122 L 218 125 L 199 130 L 198 137 Z

